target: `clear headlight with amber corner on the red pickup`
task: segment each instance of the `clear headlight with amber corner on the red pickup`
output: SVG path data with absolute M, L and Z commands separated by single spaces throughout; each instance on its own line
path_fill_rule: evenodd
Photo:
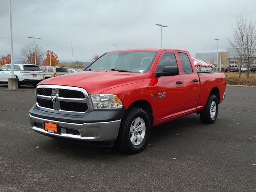
M 123 104 L 116 95 L 98 94 L 90 95 L 94 109 L 118 109 L 122 108 Z

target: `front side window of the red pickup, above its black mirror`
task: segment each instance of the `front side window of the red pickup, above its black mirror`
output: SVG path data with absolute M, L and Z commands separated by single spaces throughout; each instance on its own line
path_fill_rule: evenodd
M 162 72 L 165 66 L 177 66 L 177 61 L 174 52 L 166 52 L 162 55 L 157 66 L 156 72 Z

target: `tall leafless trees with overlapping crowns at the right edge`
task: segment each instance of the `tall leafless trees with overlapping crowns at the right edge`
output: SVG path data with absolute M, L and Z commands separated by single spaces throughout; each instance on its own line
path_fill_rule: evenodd
M 239 79 L 243 63 L 247 66 L 247 78 L 250 77 L 250 66 L 256 55 L 256 26 L 252 20 L 241 14 L 237 17 L 236 27 L 232 26 L 233 36 L 228 39 L 230 46 L 234 48 L 234 57 L 238 59 Z

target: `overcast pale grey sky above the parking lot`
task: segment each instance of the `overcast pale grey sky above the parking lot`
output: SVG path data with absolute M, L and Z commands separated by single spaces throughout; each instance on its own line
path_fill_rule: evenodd
M 36 44 L 61 62 L 90 61 L 93 55 L 126 48 L 160 47 L 216 52 L 229 47 L 238 14 L 256 22 L 255 0 L 12 0 L 14 61 L 20 48 Z M 10 53 L 8 0 L 0 0 L 0 55 Z

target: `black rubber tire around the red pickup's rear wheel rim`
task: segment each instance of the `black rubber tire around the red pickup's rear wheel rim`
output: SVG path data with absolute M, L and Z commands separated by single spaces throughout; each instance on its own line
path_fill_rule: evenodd
M 211 117 L 210 109 L 213 101 L 215 102 L 215 105 L 216 105 L 216 113 L 214 117 Z M 205 124 L 212 124 L 215 122 L 217 116 L 218 116 L 218 99 L 215 95 L 210 94 L 204 109 L 200 112 L 200 119 Z

